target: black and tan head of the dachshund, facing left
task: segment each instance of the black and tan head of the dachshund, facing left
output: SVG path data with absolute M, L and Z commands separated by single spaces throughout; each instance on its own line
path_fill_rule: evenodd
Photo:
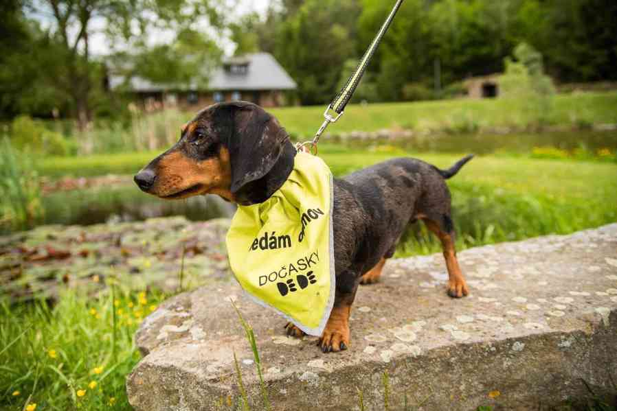
M 287 132 L 259 106 L 214 104 L 182 126 L 179 141 L 146 165 L 135 183 L 160 198 L 218 194 L 256 204 L 287 180 L 294 157 Z

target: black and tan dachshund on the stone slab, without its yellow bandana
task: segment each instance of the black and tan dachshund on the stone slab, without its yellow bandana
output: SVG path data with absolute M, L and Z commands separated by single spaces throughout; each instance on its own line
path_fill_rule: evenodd
M 238 204 L 267 200 L 293 169 L 295 148 L 278 121 L 245 102 L 214 104 L 181 128 L 180 140 L 135 176 L 146 193 L 160 198 L 217 194 Z M 334 179 L 335 303 L 322 351 L 349 346 L 349 314 L 359 283 L 379 279 L 410 222 L 423 220 L 443 246 L 448 294 L 469 293 L 454 248 L 450 193 L 445 179 L 471 156 L 440 170 L 414 158 L 395 158 Z M 288 324 L 287 333 L 302 336 Z

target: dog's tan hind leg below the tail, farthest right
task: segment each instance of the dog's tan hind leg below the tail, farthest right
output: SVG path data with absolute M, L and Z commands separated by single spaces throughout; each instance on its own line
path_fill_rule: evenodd
M 448 295 L 454 298 L 460 298 L 469 294 L 469 287 L 467 287 L 467 283 L 460 271 L 460 266 L 458 266 L 458 260 L 456 259 L 452 220 L 447 214 L 441 215 L 440 217 L 441 218 L 435 219 L 424 218 L 423 222 L 441 242 L 443 256 L 446 259 L 446 266 L 448 268 Z

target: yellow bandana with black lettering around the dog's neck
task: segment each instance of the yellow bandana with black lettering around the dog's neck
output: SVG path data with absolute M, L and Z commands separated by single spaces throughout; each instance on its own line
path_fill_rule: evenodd
M 238 206 L 227 233 L 229 263 L 257 303 L 321 336 L 334 302 L 332 174 L 321 158 L 298 152 L 271 198 Z

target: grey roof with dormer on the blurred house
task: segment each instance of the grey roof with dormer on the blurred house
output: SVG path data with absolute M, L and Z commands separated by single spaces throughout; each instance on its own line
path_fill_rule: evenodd
M 230 65 L 246 65 L 246 71 L 231 71 Z M 109 75 L 109 86 L 117 89 L 124 84 L 123 75 Z M 285 71 L 276 59 L 269 53 L 245 54 L 223 61 L 212 73 L 205 89 L 212 91 L 242 91 L 242 90 L 293 90 L 297 87 L 295 81 Z M 156 84 L 144 78 L 133 77 L 128 89 L 141 93 L 157 91 L 202 89 L 197 84 Z

